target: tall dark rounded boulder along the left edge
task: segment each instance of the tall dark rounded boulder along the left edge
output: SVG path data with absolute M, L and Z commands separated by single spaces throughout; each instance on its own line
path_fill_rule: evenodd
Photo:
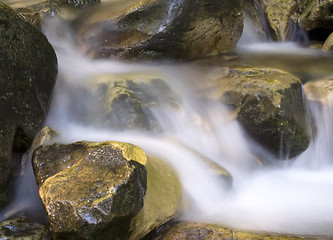
M 29 148 L 45 119 L 57 76 L 46 37 L 0 2 L 0 206 L 6 203 L 12 151 Z

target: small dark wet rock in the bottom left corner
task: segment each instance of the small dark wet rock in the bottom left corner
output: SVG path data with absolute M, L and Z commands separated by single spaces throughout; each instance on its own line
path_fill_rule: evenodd
M 0 222 L 1 239 L 51 240 L 47 228 L 25 217 Z

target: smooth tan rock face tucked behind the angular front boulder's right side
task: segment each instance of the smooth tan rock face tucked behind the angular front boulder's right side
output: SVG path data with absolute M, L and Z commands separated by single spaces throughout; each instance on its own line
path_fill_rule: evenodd
M 147 192 L 143 208 L 131 222 L 132 240 L 141 239 L 181 211 L 181 185 L 173 169 L 152 156 L 148 157 L 146 169 Z

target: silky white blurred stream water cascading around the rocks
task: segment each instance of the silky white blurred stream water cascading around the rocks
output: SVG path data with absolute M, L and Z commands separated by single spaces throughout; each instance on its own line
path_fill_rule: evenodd
M 56 50 L 59 64 L 59 77 L 45 123 L 59 132 L 55 141 L 123 141 L 138 145 L 147 154 L 160 156 L 180 178 L 186 202 L 183 220 L 218 223 L 251 231 L 333 236 L 332 106 L 318 108 L 309 104 L 308 111 L 313 112 L 317 134 L 299 157 L 281 161 L 248 138 L 238 122 L 230 119 L 225 106 L 203 102 L 190 90 L 193 86 L 200 88 L 200 84 L 205 84 L 202 79 L 218 69 L 201 71 L 200 67 L 191 64 L 92 60 L 75 48 L 70 31 L 66 32 L 63 23 L 51 22 L 45 29 L 48 29 L 46 35 Z M 263 46 L 267 49 L 263 50 Z M 306 52 L 294 44 L 281 46 L 264 44 L 258 48 L 255 43 L 239 47 L 238 54 L 247 59 L 269 52 L 275 60 L 275 54 L 280 54 L 284 61 L 282 65 L 289 67 L 292 63 L 285 62 L 286 56 L 302 59 Z M 288 50 L 281 53 L 279 48 Z M 314 54 L 317 52 L 309 52 L 305 58 L 317 59 L 318 55 Z M 266 62 L 260 58 L 253 61 Z M 178 111 L 151 109 L 162 133 L 116 131 L 79 121 L 82 115 L 76 114 L 81 107 L 87 114 L 98 107 L 78 91 L 87 79 L 101 74 L 128 73 L 161 75 L 181 96 L 182 107 Z M 262 167 L 254 160 L 253 153 L 282 164 Z M 231 188 L 211 173 L 202 156 L 231 173 Z M 27 182 L 31 187 L 24 191 Z M 11 205 L 0 211 L 0 220 L 19 212 L 39 216 L 43 210 L 29 164 L 16 185 L 19 193 Z

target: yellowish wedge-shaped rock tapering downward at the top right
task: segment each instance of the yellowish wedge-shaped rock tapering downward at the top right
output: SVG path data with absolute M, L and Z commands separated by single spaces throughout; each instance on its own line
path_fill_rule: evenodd
M 264 15 L 271 28 L 273 39 L 284 41 L 290 29 L 290 18 L 297 7 L 294 0 L 260 0 Z

